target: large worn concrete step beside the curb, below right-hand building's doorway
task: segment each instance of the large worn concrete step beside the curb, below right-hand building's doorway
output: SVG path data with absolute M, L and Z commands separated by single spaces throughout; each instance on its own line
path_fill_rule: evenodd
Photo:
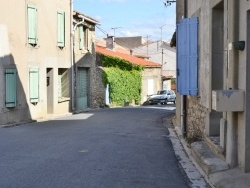
M 229 169 L 226 161 L 215 155 L 204 141 L 192 143 L 191 154 L 207 175 Z

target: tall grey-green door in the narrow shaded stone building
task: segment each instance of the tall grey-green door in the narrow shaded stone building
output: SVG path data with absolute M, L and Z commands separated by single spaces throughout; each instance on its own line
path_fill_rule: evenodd
M 88 71 L 78 68 L 77 73 L 77 110 L 83 110 L 88 107 Z

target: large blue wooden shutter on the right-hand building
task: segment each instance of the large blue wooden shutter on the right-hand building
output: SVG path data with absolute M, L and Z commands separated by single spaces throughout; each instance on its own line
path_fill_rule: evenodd
M 198 95 L 198 18 L 177 25 L 177 91 Z

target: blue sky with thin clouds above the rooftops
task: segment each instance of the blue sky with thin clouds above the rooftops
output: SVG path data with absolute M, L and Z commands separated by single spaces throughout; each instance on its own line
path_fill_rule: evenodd
M 176 29 L 175 3 L 166 7 L 164 2 L 166 0 L 74 0 L 74 10 L 100 22 L 96 28 L 97 38 L 106 38 L 109 34 L 169 42 Z

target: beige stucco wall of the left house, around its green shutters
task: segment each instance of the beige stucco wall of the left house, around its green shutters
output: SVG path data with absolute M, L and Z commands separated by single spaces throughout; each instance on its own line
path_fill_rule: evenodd
M 27 4 L 38 11 L 38 45 L 27 43 Z M 65 12 L 65 47 L 57 47 L 57 11 Z M 3 1 L 0 6 L 0 124 L 39 119 L 47 116 L 46 68 L 53 68 L 54 114 L 67 113 L 69 102 L 58 103 L 58 68 L 70 68 L 70 3 L 55 0 Z M 14 109 L 5 108 L 5 68 L 18 70 L 18 103 Z M 39 94 L 37 105 L 29 102 L 29 68 L 39 68 Z M 63 107 L 63 108 L 62 108 Z M 60 110 L 59 110 L 60 109 Z

